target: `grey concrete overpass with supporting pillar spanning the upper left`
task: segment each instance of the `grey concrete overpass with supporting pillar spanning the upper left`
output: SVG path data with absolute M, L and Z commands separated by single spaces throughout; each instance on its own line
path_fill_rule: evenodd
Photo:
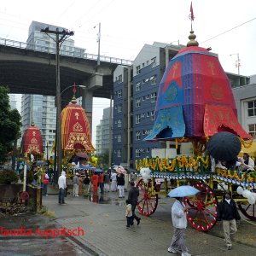
M 83 96 L 83 108 L 91 123 L 92 98 L 110 98 L 113 95 L 113 71 L 118 65 L 131 66 L 131 61 L 101 56 L 97 66 L 97 55 L 85 53 L 81 56 L 60 55 L 61 91 L 73 84 L 83 84 L 86 90 L 77 91 Z M 8 85 L 11 93 L 55 96 L 55 54 L 45 49 L 27 49 L 26 43 L 0 38 L 0 85 Z M 63 106 L 73 96 L 72 90 L 63 93 Z M 62 107 L 63 107 L 62 106 Z M 90 107 L 88 107 L 90 106 Z

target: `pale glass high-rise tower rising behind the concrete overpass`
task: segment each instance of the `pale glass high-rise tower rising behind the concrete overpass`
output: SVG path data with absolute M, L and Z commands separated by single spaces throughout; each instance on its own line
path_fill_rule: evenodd
M 49 27 L 49 30 L 66 30 L 64 27 L 53 26 L 37 21 L 32 21 L 29 26 L 28 38 L 26 40 L 28 49 L 49 52 L 55 54 L 56 47 L 53 38 L 41 32 L 41 29 Z M 74 47 L 74 41 L 67 38 L 61 44 L 61 55 L 81 56 L 85 49 Z M 52 145 L 55 141 L 56 108 L 55 96 L 23 95 L 21 97 L 22 134 L 32 121 L 41 131 L 43 137 L 44 157 L 52 156 Z

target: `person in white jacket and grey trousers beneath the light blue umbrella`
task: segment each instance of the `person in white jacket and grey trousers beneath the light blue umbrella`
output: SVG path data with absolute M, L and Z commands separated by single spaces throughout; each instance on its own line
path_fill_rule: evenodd
M 187 228 L 186 212 L 188 208 L 183 203 L 183 197 L 176 197 L 176 201 L 172 205 L 172 225 L 174 228 L 174 234 L 172 236 L 172 242 L 168 247 L 169 253 L 182 252 L 182 256 L 191 256 L 189 250 L 185 245 L 185 230 Z

